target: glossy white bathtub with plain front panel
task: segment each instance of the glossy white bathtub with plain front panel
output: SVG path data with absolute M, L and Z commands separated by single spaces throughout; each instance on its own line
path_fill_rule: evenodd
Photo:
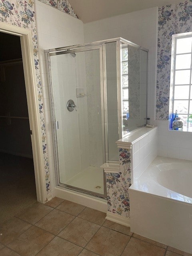
M 192 161 L 158 156 L 129 190 L 131 231 L 192 253 Z

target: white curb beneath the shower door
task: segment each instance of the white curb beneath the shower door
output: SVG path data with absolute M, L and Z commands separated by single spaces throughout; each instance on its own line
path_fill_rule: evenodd
M 72 192 L 62 188 L 55 188 L 54 195 L 101 212 L 107 212 L 107 202 L 102 198 L 96 198 L 95 196 L 85 196 L 80 192 Z

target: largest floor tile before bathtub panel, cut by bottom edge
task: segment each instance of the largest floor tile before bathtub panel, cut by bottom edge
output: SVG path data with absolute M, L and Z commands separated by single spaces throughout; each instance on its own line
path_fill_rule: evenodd
M 164 256 L 165 249 L 147 242 L 131 238 L 122 256 Z

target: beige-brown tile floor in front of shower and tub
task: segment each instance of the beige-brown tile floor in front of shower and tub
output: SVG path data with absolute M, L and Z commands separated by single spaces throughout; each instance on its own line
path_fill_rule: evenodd
M 0 226 L 0 256 L 190 256 L 60 198 L 36 202 Z

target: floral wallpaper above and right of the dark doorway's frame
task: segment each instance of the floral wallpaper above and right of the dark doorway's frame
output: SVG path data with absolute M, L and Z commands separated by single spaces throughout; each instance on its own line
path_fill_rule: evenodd
M 34 54 L 34 66 L 36 70 L 36 88 L 38 92 L 39 102 L 39 113 L 41 122 L 42 132 L 42 150 L 44 153 L 44 168 L 45 168 L 45 179 L 46 189 L 50 191 L 49 181 L 49 166 L 48 156 L 46 148 L 46 135 L 45 135 L 45 124 L 44 124 L 44 113 L 43 113 L 43 102 L 42 102 L 42 90 L 39 70 L 39 59 L 38 59 L 38 48 L 37 48 L 37 36 L 36 36 L 36 24 L 35 24 L 35 13 L 34 13 L 34 2 L 33 0 L 0 0 L 0 22 L 6 22 L 8 24 L 26 28 L 31 31 L 32 42 L 33 42 L 33 54 Z

